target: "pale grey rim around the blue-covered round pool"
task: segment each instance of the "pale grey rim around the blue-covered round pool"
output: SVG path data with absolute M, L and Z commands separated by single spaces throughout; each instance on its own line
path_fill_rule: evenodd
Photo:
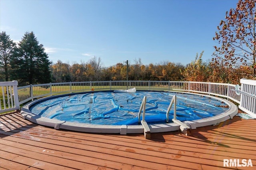
M 110 90 L 110 91 L 113 91 L 113 90 Z M 173 92 L 173 91 L 158 91 L 158 92 Z M 81 93 L 85 93 L 85 92 L 72 93 L 72 94 L 81 94 Z M 209 96 L 205 94 L 190 93 L 190 92 L 176 92 L 176 93 L 194 94 L 199 96 L 205 96 L 208 98 L 214 98 L 226 103 L 229 106 L 229 109 L 227 111 L 220 113 L 219 115 L 215 115 L 215 116 L 204 118 L 204 119 L 198 119 L 194 121 L 184 121 L 183 123 L 188 125 L 190 129 L 196 129 L 197 127 L 208 126 L 208 125 L 218 125 L 223 121 L 232 119 L 238 113 L 238 107 L 226 99 L 218 98 L 215 96 Z M 44 125 L 48 127 L 54 127 L 54 129 L 66 129 L 66 130 L 80 131 L 80 132 L 86 132 L 86 133 L 120 133 L 121 135 L 126 135 L 128 133 L 144 133 L 144 128 L 142 125 L 96 125 L 96 124 L 89 124 L 89 123 L 67 122 L 67 121 L 60 121 L 56 119 L 41 117 L 39 115 L 32 113 L 29 110 L 29 107 L 32 106 L 32 104 L 34 103 L 42 102 L 43 100 L 54 98 L 56 96 L 68 96 L 68 95 L 70 94 L 49 96 L 46 98 L 41 98 L 41 99 L 32 101 L 21 108 L 20 114 L 23 116 L 24 119 L 27 119 L 33 123 L 37 123 L 39 125 Z M 163 123 L 163 124 L 154 124 L 154 125 L 148 125 L 148 126 L 150 128 L 151 133 L 178 131 L 180 129 L 180 125 L 176 123 Z

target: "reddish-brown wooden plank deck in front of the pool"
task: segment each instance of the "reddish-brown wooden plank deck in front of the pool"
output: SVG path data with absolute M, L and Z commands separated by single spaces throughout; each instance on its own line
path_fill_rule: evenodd
M 252 167 L 223 167 L 224 159 Z M 238 116 L 217 126 L 179 132 L 90 134 L 36 125 L 20 113 L 0 115 L 0 169 L 222 170 L 256 169 L 256 119 Z

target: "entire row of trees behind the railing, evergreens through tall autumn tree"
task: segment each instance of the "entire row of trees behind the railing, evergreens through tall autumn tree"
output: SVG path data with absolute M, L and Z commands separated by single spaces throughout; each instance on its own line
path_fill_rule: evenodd
M 158 64 L 117 63 L 103 67 L 100 57 L 87 62 L 52 63 L 33 32 L 26 32 L 17 44 L 6 32 L 0 33 L 0 80 L 18 80 L 19 86 L 49 82 L 108 80 L 170 80 L 239 84 L 241 78 L 256 79 L 256 0 L 239 0 L 236 9 L 226 12 L 213 37 L 212 60 L 203 62 L 196 54 L 186 66 L 170 61 Z M 128 68 L 127 68 L 128 66 Z

